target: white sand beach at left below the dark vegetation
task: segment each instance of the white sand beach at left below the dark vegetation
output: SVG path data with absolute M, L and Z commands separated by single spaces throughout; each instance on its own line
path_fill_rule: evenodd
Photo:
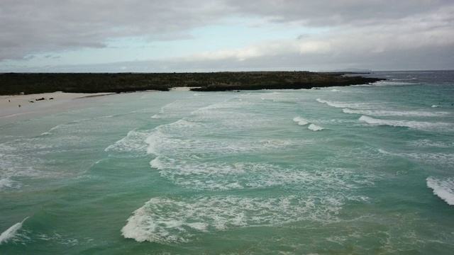
M 11 120 L 11 118 L 17 118 L 21 115 L 28 115 L 52 108 L 68 106 L 76 98 L 105 96 L 109 94 L 112 93 L 82 94 L 54 92 L 21 96 L 0 96 L 0 123 L 2 120 Z M 39 98 L 45 98 L 45 100 L 36 101 L 36 99 Z

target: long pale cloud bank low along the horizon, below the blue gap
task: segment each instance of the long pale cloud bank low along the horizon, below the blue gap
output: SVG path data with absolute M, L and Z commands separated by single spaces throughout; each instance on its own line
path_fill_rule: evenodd
M 223 71 L 269 71 L 269 70 L 328 70 L 349 67 L 380 70 L 408 69 L 454 69 L 454 45 L 438 49 L 423 47 L 418 50 L 390 50 L 370 53 L 337 52 L 326 54 L 284 54 L 266 55 L 238 61 L 232 58 L 221 60 L 150 60 L 138 62 L 118 62 L 109 64 L 67 65 L 54 67 L 8 67 L 0 72 L 223 72 Z M 431 62 L 427 60 L 430 59 Z

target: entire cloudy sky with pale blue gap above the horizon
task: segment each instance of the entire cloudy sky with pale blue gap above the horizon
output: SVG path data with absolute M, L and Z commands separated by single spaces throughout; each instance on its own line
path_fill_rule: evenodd
M 454 69 L 453 0 L 0 0 L 0 72 Z

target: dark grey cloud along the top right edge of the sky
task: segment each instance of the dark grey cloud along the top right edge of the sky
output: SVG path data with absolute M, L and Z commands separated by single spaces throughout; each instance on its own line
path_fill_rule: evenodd
M 269 18 L 275 22 L 299 22 L 306 26 L 371 26 L 396 23 L 413 16 L 426 15 L 453 8 L 443 0 L 227 0 L 238 13 Z M 450 16 L 450 15 L 449 15 Z M 452 18 L 452 16 L 450 16 Z

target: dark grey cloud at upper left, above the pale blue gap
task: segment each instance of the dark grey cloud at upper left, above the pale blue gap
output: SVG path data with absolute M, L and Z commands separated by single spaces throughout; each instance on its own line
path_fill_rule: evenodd
M 211 1 L 4 1 L 0 60 L 45 51 L 106 47 L 112 38 L 188 38 L 185 30 L 215 23 L 223 8 Z

